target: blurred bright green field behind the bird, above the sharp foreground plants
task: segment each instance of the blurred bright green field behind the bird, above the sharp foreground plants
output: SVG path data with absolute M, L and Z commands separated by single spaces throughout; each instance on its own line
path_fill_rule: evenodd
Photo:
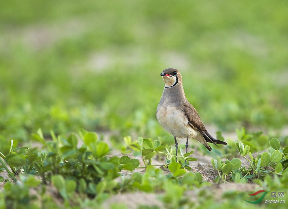
M 287 1 L 0 2 L 6 137 L 79 127 L 168 136 L 155 117 L 168 67 L 204 124 L 287 125 Z

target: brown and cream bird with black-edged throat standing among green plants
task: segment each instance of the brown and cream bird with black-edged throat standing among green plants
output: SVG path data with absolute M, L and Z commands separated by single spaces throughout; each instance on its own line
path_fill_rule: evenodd
M 156 110 L 156 118 L 160 125 L 174 136 L 176 156 L 178 153 L 176 138 L 186 138 L 186 153 L 188 139 L 191 138 L 203 144 L 209 151 L 212 148 L 208 143 L 227 144 L 213 138 L 206 130 L 196 109 L 185 96 L 180 72 L 174 68 L 167 68 L 160 76 L 164 80 L 164 90 Z

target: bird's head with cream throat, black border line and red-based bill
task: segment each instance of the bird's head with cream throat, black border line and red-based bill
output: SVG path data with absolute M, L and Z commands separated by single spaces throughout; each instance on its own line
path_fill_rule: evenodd
M 178 83 L 182 83 L 182 77 L 180 72 L 174 68 L 167 68 L 160 74 L 163 76 L 165 88 L 176 86 Z

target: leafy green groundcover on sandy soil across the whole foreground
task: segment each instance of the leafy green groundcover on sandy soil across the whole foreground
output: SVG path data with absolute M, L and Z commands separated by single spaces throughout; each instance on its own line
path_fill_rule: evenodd
M 1 136 L 0 171 L 8 177 L 0 178 L 0 208 L 103 208 L 113 196 L 135 192 L 154 194 L 158 202 L 138 208 L 253 208 L 255 204 L 245 200 L 259 199 L 261 194 L 248 195 L 257 189 L 284 192 L 278 199 L 285 201 L 288 147 L 281 148 L 280 141 L 272 138 L 263 145 L 267 146 L 265 152 L 257 153 L 257 142 L 263 137 L 268 136 L 238 130 L 240 140 L 221 147 L 228 153 L 226 160 L 219 156 L 211 159 L 216 176 L 203 180 L 203 172 L 195 172 L 189 164 L 197 161 L 194 151 L 184 153 L 180 148 L 176 162 L 174 149 L 158 140 L 139 137 L 132 142 L 125 137 L 122 154 L 113 156 L 106 142 L 84 129 L 68 138 L 56 137 L 51 131 L 50 140 L 45 140 L 39 129 L 33 138 L 41 143 L 41 150 L 17 147 L 17 141 Z M 163 165 L 151 165 L 154 159 L 162 159 Z M 265 200 L 259 204 L 275 207 Z M 127 207 L 117 202 L 109 206 Z M 277 208 L 284 206 L 278 204 Z

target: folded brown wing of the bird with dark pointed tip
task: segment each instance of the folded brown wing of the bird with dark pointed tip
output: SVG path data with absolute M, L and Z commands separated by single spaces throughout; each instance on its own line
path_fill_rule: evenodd
M 202 133 L 206 142 L 210 142 L 213 144 L 227 144 L 226 142 L 222 142 L 220 140 L 216 140 L 213 138 L 208 131 L 206 130 L 203 122 L 201 121 L 196 109 L 190 104 L 187 100 L 183 102 L 183 112 L 188 119 L 188 124 L 194 128 L 195 130 Z M 217 146 L 217 145 L 216 145 Z

